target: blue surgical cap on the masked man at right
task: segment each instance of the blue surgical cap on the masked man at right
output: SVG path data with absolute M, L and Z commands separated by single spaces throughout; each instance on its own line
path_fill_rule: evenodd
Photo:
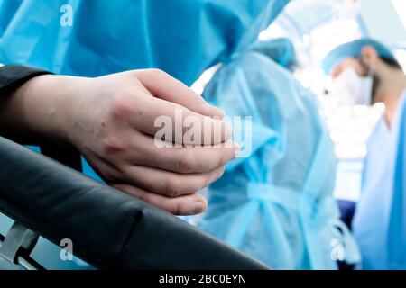
M 342 44 L 328 53 L 328 56 L 323 60 L 323 69 L 326 74 L 331 72 L 331 69 L 337 66 L 345 58 L 355 58 L 361 56 L 362 49 L 365 46 L 372 46 L 381 58 L 394 59 L 390 49 L 382 43 L 372 39 L 360 39 Z

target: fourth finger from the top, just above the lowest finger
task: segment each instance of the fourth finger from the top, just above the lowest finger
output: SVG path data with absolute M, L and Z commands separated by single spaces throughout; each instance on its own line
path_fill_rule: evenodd
M 147 166 L 128 166 L 120 180 L 167 197 L 196 193 L 216 181 L 224 167 L 200 174 L 179 174 Z M 118 181 L 121 182 L 121 181 Z

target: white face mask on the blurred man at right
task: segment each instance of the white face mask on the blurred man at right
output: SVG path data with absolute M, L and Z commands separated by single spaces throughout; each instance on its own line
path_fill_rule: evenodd
M 346 68 L 334 81 L 338 102 L 345 105 L 371 105 L 373 76 L 358 76 L 354 68 Z

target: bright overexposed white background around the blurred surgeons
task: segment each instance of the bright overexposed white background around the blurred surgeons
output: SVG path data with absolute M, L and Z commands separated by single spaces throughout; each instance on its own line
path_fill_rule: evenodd
M 390 32 L 388 32 L 390 31 Z M 285 37 L 298 55 L 295 76 L 318 96 L 338 158 L 336 197 L 356 202 L 360 196 L 366 140 L 384 112 L 373 107 L 339 105 L 332 81 L 322 69 L 328 52 L 342 43 L 374 38 L 395 50 L 406 69 L 406 1 L 404 0 L 294 0 L 259 39 Z M 201 92 L 216 71 L 209 69 L 193 88 Z

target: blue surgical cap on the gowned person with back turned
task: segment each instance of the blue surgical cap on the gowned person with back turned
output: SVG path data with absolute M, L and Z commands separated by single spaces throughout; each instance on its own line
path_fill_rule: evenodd
M 259 41 L 253 45 L 251 50 L 272 58 L 273 61 L 288 69 L 296 64 L 295 48 L 291 40 L 287 38 Z

